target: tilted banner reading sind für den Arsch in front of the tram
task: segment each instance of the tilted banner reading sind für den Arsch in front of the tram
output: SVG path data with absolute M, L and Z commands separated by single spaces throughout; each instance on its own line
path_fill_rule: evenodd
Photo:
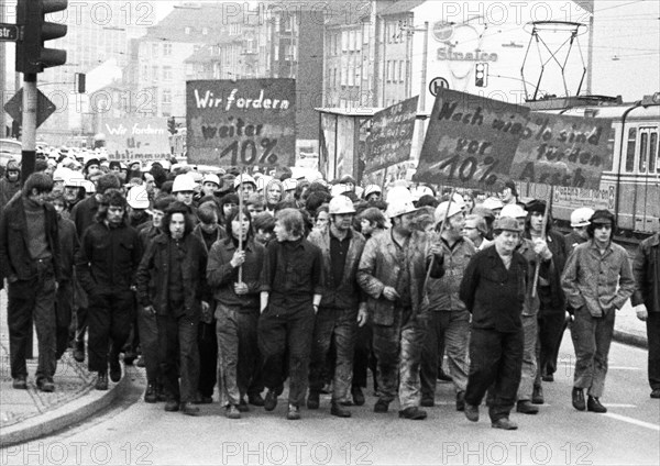
M 612 167 L 612 120 L 534 112 L 510 177 L 552 186 L 598 189 Z

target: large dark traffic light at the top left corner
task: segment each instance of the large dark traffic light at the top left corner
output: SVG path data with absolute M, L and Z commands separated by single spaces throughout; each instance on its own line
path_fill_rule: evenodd
M 66 25 L 45 20 L 47 13 L 66 10 L 68 0 L 19 0 L 16 24 L 23 26 L 16 42 L 16 73 L 35 74 L 66 63 L 66 51 L 46 48 L 44 43 L 66 35 Z

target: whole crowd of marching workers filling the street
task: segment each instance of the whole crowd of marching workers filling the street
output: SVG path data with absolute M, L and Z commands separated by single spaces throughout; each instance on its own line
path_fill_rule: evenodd
M 322 393 L 350 418 L 371 371 L 376 413 L 398 400 L 400 418 L 426 419 L 446 380 L 470 421 L 485 398 L 492 425 L 514 430 L 512 411 L 544 403 L 566 328 L 571 402 L 606 412 L 615 314 L 631 299 L 660 398 L 658 233 L 630 260 L 607 210 L 576 209 L 564 236 L 550 206 L 521 203 L 510 181 L 492 197 L 404 180 L 383 192 L 349 176 L 62 155 L 26 179 L 10 162 L 0 213 L 14 389 L 28 388 L 34 328 L 46 392 L 70 350 L 98 390 L 122 363 L 144 367 L 144 401 L 165 411 L 219 400 L 240 419 L 273 411 L 287 384 L 287 419 Z

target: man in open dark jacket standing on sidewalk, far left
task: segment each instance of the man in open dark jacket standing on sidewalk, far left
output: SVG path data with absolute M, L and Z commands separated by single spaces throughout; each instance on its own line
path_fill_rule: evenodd
M 55 292 L 62 279 L 57 214 L 45 202 L 53 190 L 46 174 L 32 174 L 20 197 L 0 218 L 0 276 L 7 277 L 9 354 L 13 388 L 26 389 L 25 355 L 32 322 L 38 341 L 36 386 L 54 391 L 56 358 Z

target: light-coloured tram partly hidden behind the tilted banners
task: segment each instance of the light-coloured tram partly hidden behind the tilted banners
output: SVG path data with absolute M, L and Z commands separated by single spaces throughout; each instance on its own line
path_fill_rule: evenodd
M 557 99 L 528 103 L 534 110 L 613 120 L 613 164 L 603 173 L 600 189 L 554 188 L 552 213 L 569 226 L 579 207 L 608 209 L 617 219 L 618 235 L 644 238 L 660 228 L 660 92 L 636 103 L 609 98 Z M 547 186 L 518 182 L 524 199 L 547 192 Z

